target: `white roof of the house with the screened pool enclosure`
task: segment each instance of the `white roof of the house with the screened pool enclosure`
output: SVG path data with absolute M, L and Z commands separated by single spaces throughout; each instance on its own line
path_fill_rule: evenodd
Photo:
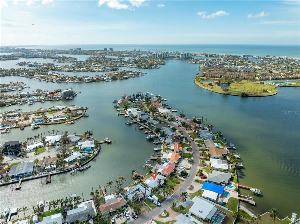
M 208 214 L 215 208 L 213 204 L 197 196 L 192 199 L 192 202 L 194 202 L 194 204 L 190 207 L 190 212 L 196 214 L 203 220 L 205 220 Z

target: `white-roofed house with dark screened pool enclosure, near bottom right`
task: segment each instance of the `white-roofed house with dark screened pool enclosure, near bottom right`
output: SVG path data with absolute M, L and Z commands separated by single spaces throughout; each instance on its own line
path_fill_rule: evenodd
M 192 207 L 189 211 L 196 217 L 206 220 L 214 224 L 222 224 L 226 218 L 226 213 L 217 209 L 213 204 L 205 201 L 200 197 L 194 197 L 192 199 Z

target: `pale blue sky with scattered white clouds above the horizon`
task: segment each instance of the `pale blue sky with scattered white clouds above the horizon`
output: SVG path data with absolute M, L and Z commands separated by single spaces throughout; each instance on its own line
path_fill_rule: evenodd
M 300 1 L 0 0 L 1 46 L 104 43 L 300 45 Z

